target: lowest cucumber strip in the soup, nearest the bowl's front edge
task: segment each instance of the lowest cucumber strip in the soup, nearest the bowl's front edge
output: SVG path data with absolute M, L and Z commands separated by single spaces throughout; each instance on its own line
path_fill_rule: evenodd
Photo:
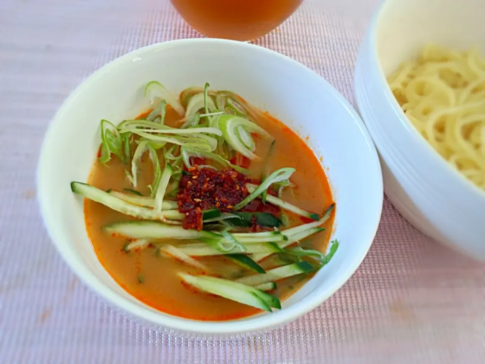
M 274 301 L 277 300 L 277 303 L 279 304 L 279 300 L 275 299 L 275 297 L 272 297 L 264 291 L 244 284 L 215 277 L 190 276 L 184 273 L 178 273 L 178 276 L 185 283 L 202 291 L 260 308 L 268 312 L 271 312 L 271 307 L 267 302 L 272 302 L 274 304 Z

